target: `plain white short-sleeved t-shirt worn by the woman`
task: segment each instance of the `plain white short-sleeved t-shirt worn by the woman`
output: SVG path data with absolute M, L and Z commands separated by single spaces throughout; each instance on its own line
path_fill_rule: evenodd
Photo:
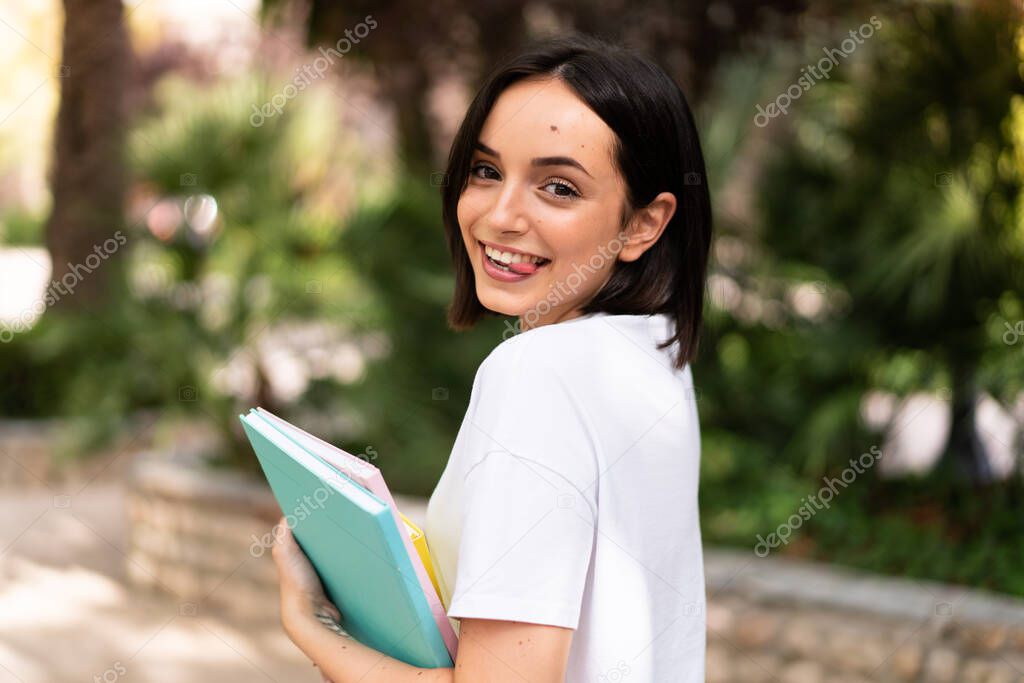
M 453 626 L 574 629 L 565 680 L 705 680 L 700 435 L 666 315 L 590 313 L 500 343 L 427 506 Z

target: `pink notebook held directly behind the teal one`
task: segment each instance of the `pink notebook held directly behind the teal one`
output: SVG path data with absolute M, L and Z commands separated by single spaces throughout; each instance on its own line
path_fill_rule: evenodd
M 328 443 L 324 439 L 299 429 L 292 423 L 279 418 L 269 411 L 265 411 L 262 408 L 257 408 L 256 410 L 260 415 L 292 436 L 303 447 L 324 459 L 357 484 L 386 503 L 387 506 L 391 508 L 391 515 L 394 517 L 394 523 L 398 529 L 403 530 L 406 528 L 404 522 L 402 522 L 401 516 L 398 514 L 398 506 L 394 504 L 391 492 L 384 482 L 384 475 L 381 474 L 381 471 L 378 468 L 361 458 L 356 458 L 350 453 L 345 453 L 341 449 Z M 441 632 L 441 638 L 444 640 L 444 645 L 447 647 L 449 654 L 452 655 L 452 660 L 455 661 L 456 652 L 459 648 L 459 639 L 456 636 L 455 631 L 452 629 L 452 623 L 449 622 L 447 614 L 444 612 L 444 607 L 441 605 L 440 598 L 437 596 L 437 592 L 434 590 L 433 584 L 430 583 L 430 577 L 427 575 L 427 570 L 424 568 L 423 562 L 420 560 L 420 554 L 416 552 L 416 548 L 413 547 L 413 542 L 409 538 L 408 533 L 401 533 L 401 538 L 406 542 L 406 551 L 409 553 L 409 557 L 413 561 L 413 568 L 416 569 L 416 577 L 420 581 L 420 586 L 423 587 L 423 593 L 427 596 L 427 602 L 430 605 L 431 613 L 434 615 L 434 621 L 437 623 L 437 629 Z

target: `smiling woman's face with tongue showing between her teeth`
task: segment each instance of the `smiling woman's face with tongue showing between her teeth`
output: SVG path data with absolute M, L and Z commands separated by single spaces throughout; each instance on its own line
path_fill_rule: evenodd
M 626 185 L 613 142 L 559 79 L 518 81 L 502 92 L 458 210 L 484 307 L 519 316 L 523 330 L 575 317 L 615 259 L 633 257 L 622 251 Z

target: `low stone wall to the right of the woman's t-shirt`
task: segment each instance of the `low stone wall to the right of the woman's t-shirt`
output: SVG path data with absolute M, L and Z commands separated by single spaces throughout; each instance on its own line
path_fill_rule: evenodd
M 1024 601 L 709 551 L 709 683 L 1024 681 Z

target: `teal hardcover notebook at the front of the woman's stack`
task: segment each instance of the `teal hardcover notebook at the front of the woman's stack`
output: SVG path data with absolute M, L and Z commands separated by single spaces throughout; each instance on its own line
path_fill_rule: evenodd
M 255 410 L 239 419 L 342 627 L 415 667 L 453 666 L 390 508 Z

